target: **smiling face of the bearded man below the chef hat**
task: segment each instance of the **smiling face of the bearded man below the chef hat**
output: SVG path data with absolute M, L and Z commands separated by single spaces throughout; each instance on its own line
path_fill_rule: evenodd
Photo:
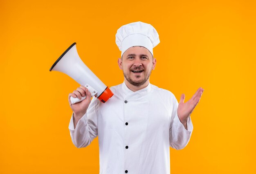
M 130 47 L 118 59 L 124 77 L 133 86 L 141 86 L 149 81 L 151 71 L 155 69 L 156 59 L 150 51 L 142 46 Z

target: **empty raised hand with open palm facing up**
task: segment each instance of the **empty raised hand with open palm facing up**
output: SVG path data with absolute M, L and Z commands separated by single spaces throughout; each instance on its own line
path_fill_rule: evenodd
M 180 103 L 177 108 L 177 115 L 180 119 L 180 122 L 185 126 L 185 128 L 186 128 L 186 121 L 188 120 L 189 116 L 195 109 L 195 106 L 197 106 L 203 91 L 204 91 L 203 88 L 201 87 L 198 88 L 198 90 L 195 92 L 193 97 L 189 99 L 189 101 L 187 101 L 186 103 L 184 103 L 185 94 L 182 94 L 180 97 Z

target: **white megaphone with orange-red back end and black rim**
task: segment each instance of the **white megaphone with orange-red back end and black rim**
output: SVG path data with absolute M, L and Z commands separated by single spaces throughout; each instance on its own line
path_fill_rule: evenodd
M 105 103 L 113 96 L 112 91 L 83 63 L 76 51 L 76 42 L 56 60 L 50 71 L 60 71 L 72 77 L 77 83 L 88 88 L 92 96 Z M 92 97 L 91 96 L 91 97 Z M 70 97 L 72 104 L 83 101 L 85 97 Z

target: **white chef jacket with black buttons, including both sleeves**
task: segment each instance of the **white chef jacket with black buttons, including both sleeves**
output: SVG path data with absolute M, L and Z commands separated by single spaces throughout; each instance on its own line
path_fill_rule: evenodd
M 125 83 L 110 89 L 114 95 L 104 104 L 94 97 L 75 129 L 72 115 L 74 145 L 86 147 L 99 136 L 100 174 L 170 174 L 169 147 L 187 145 L 190 117 L 186 130 L 173 93 L 155 85 L 136 92 Z

